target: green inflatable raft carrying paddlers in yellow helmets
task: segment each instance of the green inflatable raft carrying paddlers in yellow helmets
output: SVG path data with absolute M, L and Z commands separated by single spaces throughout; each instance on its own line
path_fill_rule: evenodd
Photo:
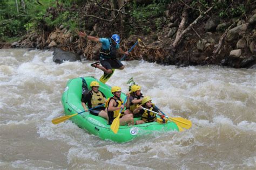
M 102 91 L 106 98 L 112 97 L 111 87 L 107 84 L 100 82 L 95 77 L 83 77 L 87 84 L 92 81 L 97 81 L 100 84 L 99 90 Z M 67 86 L 62 95 L 62 104 L 64 107 L 65 115 L 72 115 L 84 111 L 81 98 L 82 98 L 82 84 L 83 79 L 81 77 L 71 79 L 68 81 Z M 90 87 L 87 87 L 90 90 Z M 125 94 L 121 94 L 121 98 L 124 100 Z M 165 131 L 179 131 L 178 126 L 174 122 L 168 121 L 165 124 L 157 122 L 145 123 L 133 126 L 119 126 L 118 133 L 113 133 L 110 129 L 110 125 L 107 120 L 91 115 L 89 112 L 83 112 L 70 118 L 72 122 L 77 124 L 79 128 L 86 129 L 92 134 L 99 136 L 102 139 L 108 139 L 116 141 L 118 143 L 130 141 L 139 136 L 150 134 L 153 132 L 165 132 Z M 134 121 L 139 118 L 134 118 Z

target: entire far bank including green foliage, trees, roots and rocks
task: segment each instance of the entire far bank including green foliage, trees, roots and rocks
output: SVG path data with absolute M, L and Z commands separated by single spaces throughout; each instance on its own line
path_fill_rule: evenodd
M 60 48 L 98 60 L 78 36 L 119 34 L 126 60 L 256 68 L 256 2 L 227 0 L 1 1 L 0 48 Z

